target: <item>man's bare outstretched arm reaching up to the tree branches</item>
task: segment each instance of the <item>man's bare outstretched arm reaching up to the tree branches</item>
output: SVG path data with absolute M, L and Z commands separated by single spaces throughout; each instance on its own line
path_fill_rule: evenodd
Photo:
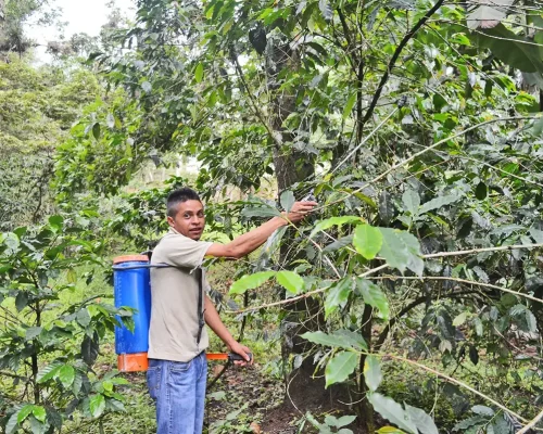
M 274 233 L 276 229 L 289 221 L 302 220 L 311 210 L 317 206 L 316 202 L 296 202 L 285 218 L 274 217 L 264 225 L 243 233 L 227 244 L 215 243 L 207 248 L 206 256 L 240 258 L 254 252 Z

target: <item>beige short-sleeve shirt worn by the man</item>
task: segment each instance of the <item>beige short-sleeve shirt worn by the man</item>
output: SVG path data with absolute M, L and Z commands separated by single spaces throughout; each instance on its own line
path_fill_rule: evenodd
M 199 282 L 195 268 L 202 265 L 212 244 L 191 240 L 171 229 L 154 248 L 152 265 L 167 264 L 175 268 L 151 268 L 149 358 L 189 361 L 207 348 L 205 327 L 197 344 Z M 209 288 L 203 270 L 202 277 L 203 301 Z

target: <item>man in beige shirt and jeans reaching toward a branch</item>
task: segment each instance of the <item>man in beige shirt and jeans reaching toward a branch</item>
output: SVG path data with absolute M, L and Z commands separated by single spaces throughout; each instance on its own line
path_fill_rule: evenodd
M 151 397 L 156 400 L 157 434 L 200 434 L 203 426 L 209 344 L 205 323 L 228 349 L 252 363 L 250 349 L 232 337 L 210 297 L 200 268 L 204 256 L 240 258 L 261 246 L 272 233 L 304 218 L 315 202 L 296 202 L 283 217 L 275 217 L 227 244 L 200 241 L 204 208 L 191 189 L 172 192 L 167 199 L 168 233 L 155 247 L 151 264 L 151 324 L 149 370 Z

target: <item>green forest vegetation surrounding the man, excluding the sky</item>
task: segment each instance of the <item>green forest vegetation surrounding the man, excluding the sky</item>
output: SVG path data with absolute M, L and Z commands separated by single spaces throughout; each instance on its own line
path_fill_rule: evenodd
M 40 48 L 54 0 L 0 0 L 3 432 L 154 431 L 111 258 L 185 184 L 209 240 L 319 202 L 209 264 L 258 360 L 212 370 L 210 433 L 543 430 L 543 3 L 134 5 Z

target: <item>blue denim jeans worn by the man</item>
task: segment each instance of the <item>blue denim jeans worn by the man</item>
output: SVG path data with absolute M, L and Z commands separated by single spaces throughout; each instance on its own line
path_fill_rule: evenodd
M 207 359 L 149 359 L 147 385 L 156 403 L 157 434 L 201 434 L 207 380 Z

